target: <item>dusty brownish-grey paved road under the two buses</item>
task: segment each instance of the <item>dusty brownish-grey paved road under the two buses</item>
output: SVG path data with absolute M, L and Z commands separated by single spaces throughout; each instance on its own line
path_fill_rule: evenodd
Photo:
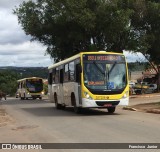
M 139 98 L 131 99 L 132 104 L 140 101 Z M 119 107 L 112 115 L 107 110 L 84 110 L 77 115 L 71 108 L 56 110 L 54 103 L 38 99 L 10 98 L 0 105 L 12 118 L 6 126 L 0 127 L 1 143 L 160 142 L 160 115 L 157 114 L 127 111 Z

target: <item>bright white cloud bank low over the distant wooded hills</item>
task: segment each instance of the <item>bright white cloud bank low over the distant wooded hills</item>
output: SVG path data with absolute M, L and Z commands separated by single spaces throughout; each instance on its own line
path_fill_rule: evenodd
M 53 63 L 49 55 L 45 55 L 46 47 L 38 42 L 0 45 L 0 66 L 48 67 Z

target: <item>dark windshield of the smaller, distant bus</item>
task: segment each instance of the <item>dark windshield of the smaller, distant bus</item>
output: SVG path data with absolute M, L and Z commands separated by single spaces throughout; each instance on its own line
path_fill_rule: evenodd
M 26 80 L 26 87 L 31 93 L 39 93 L 43 90 L 42 79 L 28 79 Z

